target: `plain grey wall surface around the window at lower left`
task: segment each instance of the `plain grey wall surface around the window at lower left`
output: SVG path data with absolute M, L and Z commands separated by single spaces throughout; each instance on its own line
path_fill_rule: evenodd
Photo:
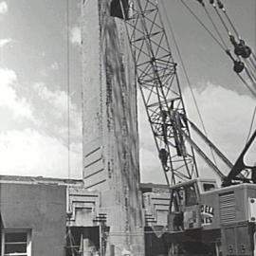
M 64 256 L 64 186 L 0 183 L 3 229 L 31 229 L 32 255 Z

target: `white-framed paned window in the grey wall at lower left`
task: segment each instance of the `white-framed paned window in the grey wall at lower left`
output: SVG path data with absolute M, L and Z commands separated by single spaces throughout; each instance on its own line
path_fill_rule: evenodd
M 30 230 L 4 229 L 2 231 L 1 256 L 31 256 Z

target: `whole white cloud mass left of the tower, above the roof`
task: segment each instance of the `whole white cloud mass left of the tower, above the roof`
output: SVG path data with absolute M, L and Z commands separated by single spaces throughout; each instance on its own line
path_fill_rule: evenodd
M 11 125 L 0 126 L 0 174 L 68 177 L 66 92 L 53 91 L 40 82 L 26 98 L 13 70 L 0 68 L 0 78 L 0 119 Z M 82 119 L 77 106 L 68 99 L 70 177 L 81 177 Z M 6 115 L 7 110 L 10 115 Z M 22 126 L 18 125 L 21 122 Z

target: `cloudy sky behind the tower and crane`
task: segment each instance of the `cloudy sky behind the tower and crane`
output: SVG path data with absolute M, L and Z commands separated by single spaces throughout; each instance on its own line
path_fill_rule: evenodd
M 255 98 L 234 75 L 225 53 L 180 1 L 162 1 L 208 136 L 234 161 L 245 145 Z M 186 3 L 209 25 L 196 0 Z M 224 0 L 224 3 L 247 44 L 255 48 L 255 0 Z M 63 0 L 0 0 L 0 174 L 82 177 L 79 0 L 69 0 L 68 26 L 66 15 Z M 163 20 L 166 23 L 166 18 Z M 188 116 L 200 126 L 172 38 L 170 43 L 179 67 Z M 67 167 L 67 101 L 70 102 L 70 174 Z M 140 99 L 138 110 L 142 181 L 164 182 Z M 252 149 L 249 161 L 255 153 Z M 204 164 L 201 170 L 202 175 L 209 176 Z

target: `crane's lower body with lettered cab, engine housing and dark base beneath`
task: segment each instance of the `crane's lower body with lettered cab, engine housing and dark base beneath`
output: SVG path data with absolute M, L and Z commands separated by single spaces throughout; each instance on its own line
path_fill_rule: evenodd
M 171 254 L 256 255 L 255 184 L 218 188 L 214 180 L 196 178 L 174 185 L 171 201 Z

